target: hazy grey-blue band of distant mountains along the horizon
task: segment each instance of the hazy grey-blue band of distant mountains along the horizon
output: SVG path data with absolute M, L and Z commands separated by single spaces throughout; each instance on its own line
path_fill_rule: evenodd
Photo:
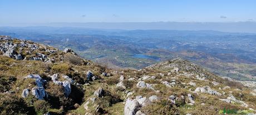
M 91 23 L 9 23 L 0 27 L 27 27 L 27 26 L 51 26 L 51 27 L 82 27 L 93 29 L 167 29 L 181 31 L 214 30 L 223 32 L 256 33 L 256 22 L 91 22 Z M 106 31 L 106 30 L 105 30 Z

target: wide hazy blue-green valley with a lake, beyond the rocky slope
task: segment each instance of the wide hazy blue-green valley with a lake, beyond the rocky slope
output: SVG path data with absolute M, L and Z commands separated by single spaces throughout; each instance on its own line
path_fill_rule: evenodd
M 59 49 L 72 48 L 83 58 L 115 69 L 141 69 L 182 57 L 220 76 L 256 81 L 256 34 L 252 33 L 67 27 L 0 29 L 0 33 L 13 37 Z

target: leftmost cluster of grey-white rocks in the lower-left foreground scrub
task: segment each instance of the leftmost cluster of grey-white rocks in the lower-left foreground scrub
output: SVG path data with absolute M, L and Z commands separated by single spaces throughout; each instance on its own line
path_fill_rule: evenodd
M 36 87 L 32 88 L 31 90 L 29 88 L 23 89 L 22 91 L 22 97 L 26 98 L 28 97 L 29 92 L 31 91 L 31 94 L 35 96 L 37 99 L 44 99 L 48 97 L 48 94 L 45 91 L 45 88 L 43 88 L 43 83 L 45 82 L 38 74 L 29 74 L 25 79 L 32 78 L 35 79 Z

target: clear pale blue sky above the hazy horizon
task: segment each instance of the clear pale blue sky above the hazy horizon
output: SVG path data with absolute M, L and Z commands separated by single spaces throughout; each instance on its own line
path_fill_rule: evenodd
M 0 0 L 0 23 L 256 21 L 255 0 Z

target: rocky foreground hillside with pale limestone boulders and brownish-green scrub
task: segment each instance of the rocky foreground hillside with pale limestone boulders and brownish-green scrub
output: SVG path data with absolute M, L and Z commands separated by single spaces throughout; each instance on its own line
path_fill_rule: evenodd
M 177 58 L 116 71 L 0 36 L 0 114 L 253 114 L 256 92 Z

